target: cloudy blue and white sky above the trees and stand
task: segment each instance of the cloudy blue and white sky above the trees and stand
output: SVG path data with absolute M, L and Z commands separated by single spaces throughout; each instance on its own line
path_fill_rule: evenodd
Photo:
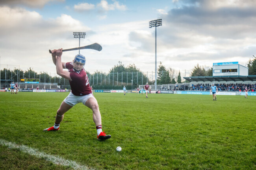
M 157 64 L 191 70 L 197 63 L 246 64 L 256 55 L 255 0 L 1 0 L 0 62 L 55 73 L 48 49 L 79 46 L 73 32 L 86 32 L 81 46 L 98 42 L 102 51 L 81 50 L 86 70 L 108 72 L 121 61 L 141 71 Z M 78 51 L 63 53 L 69 62 Z M 188 73 L 187 73 L 188 76 Z

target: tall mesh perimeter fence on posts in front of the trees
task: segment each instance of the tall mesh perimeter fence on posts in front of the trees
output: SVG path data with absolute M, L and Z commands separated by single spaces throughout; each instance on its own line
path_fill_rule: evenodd
M 1 88 L 8 88 L 11 81 L 23 83 L 21 79 L 39 79 L 40 83 L 54 83 L 58 84 L 61 89 L 70 89 L 69 80 L 59 77 L 56 72 L 51 73 L 43 71 L 37 73 L 31 68 L 27 71 L 23 71 L 16 65 L 1 65 L 0 79 Z M 190 74 L 190 71 L 186 70 L 173 70 L 172 72 L 161 71 L 158 73 L 158 83 L 163 79 L 164 75 L 169 73 L 170 79 L 177 80 L 178 73 L 180 72 L 181 78 L 186 77 Z M 131 90 L 139 87 L 141 84 L 146 84 L 154 86 L 155 83 L 155 72 L 154 71 L 130 71 L 130 72 L 109 72 L 109 73 L 88 73 L 87 74 L 89 83 L 93 89 L 122 89 L 126 86 L 126 89 Z M 182 78 L 182 81 L 184 79 Z M 162 84 L 169 84 L 170 82 L 165 82 Z

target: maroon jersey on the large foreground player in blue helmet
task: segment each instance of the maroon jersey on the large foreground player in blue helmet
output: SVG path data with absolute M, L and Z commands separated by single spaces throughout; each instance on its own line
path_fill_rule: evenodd
M 70 72 L 71 80 L 69 80 L 69 84 L 73 95 L 84 96 L 92 93 L 89 79 L 84 69 L 81 71 L 74 71 L 73 62 L 67 62 L 65 67 L 69 69 Z

